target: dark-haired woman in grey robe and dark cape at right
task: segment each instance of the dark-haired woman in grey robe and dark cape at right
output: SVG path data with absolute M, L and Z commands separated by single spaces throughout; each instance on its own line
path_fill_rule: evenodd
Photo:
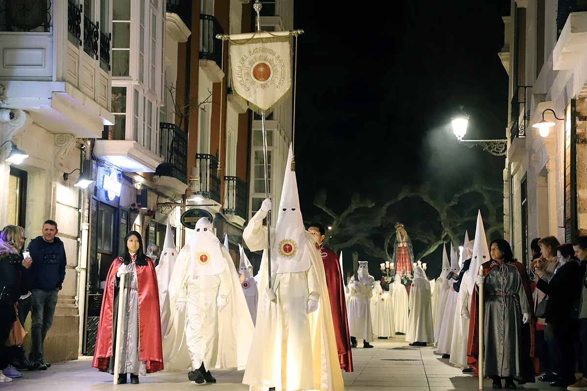
M 514 259 L 510 243 L 491 242 L 491 260 L 482 264 L 484 283 L 485 376 L 494 389 L 514 389 L 514 379 L 525 383 L 534 379 L 532 358 L 531 306 L 524 266 Z

